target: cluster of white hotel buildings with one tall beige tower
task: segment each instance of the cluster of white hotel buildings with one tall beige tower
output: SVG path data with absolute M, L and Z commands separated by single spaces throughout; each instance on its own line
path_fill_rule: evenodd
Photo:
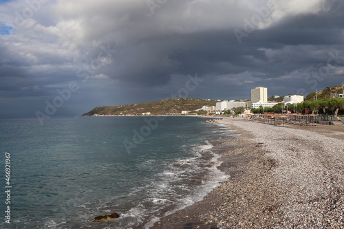
M 285 105 L 290 105 L 294 103 L 303 102 L 303 96 L 284 96 L 283 102 Z M 251 89 L 251 100 L 223 100 L 216 103 L 217 111 L 232 110 L 239 107 L 244 107 L 244 109 L 257 109 L 260 107 L 274 107 L 278 102 L 268 102 L 268 88 L 266 87 L 256 87 Z

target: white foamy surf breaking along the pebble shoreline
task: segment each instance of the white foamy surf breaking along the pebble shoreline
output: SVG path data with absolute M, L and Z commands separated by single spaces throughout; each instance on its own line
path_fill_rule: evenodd
M 185 147 L 185 149 L 189 149 L 192 153 L 190 157 L 162 164 L 166 167 L 164 171 L 157 173 L 155 179 L 151 179 L 145 186 L 136 188 L 128 195 L 142 195 L 146 198 L 142 199 L 137 206 L 121 213 L 120 225 L 130 228 L 145 222 L 144 228 L 150 228 L 159 221 L 161 217 L 159 212 L 166 212 L 165 215 L 169 215 L 191 206 L 196 201 L 202 200 L 213 188 L 219 186 L 219 182 L 228 179 L 228 176 L 217 169 L 221 162 L 219 162 L 219 155 L 211 151 L 213 149 L 211 143 L 205 141 L 200 146 Z M 147 168 L 155 164 L 157 164 L 155 160 L 149 160 L 143 162 L 141 166 Z M 206 166 L 206 164 L 212 166 Z M 204 177 L 197 186 L 192 185 L 192 181 L 197 180 L 195 177 Z M 102 206 L 103 211 L 105 206 L 106 204 Z

